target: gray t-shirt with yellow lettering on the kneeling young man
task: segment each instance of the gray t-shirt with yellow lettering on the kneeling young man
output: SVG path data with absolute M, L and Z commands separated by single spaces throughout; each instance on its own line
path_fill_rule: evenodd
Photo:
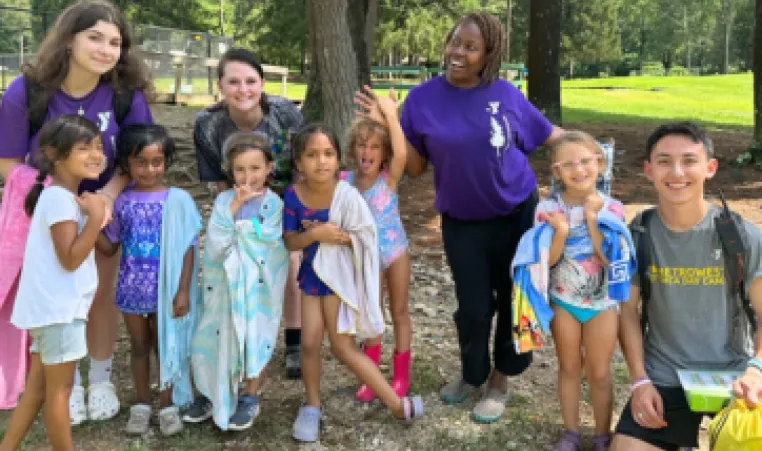
M 679 386 L 678 369 L 742 370 L 753 352 L 746 313 L 725 285 L 725 260 L 715 231 L 719 207 L 686 232 L 651 217 L 653 243 L 645 366 L 656 385 Z M 746 287 L 762 275 L 762 231 L 744 221 L 749 250 Z M 637 278 L 633 279 L 637 282 Z

